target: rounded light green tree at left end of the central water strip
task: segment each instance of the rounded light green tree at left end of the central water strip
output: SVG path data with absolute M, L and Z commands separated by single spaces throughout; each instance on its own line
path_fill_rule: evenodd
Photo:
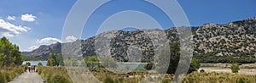
M 105 68 L 116 68 L 117 64 L 113 58 L 106 56 L 105 58 L 101 58 L 102 66 Z

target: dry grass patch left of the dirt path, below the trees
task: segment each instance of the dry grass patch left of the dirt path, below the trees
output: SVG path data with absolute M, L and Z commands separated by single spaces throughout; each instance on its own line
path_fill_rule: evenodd
M 0 83 L 7 83 L 25 71 L 25 66 L 1 67 Z

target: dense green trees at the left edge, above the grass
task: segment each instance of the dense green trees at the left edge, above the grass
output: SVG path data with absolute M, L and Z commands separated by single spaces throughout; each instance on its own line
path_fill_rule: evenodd
M 19 47 L 6 37 L 0 38 L 0 66 L 20 65 L 22 62 Z

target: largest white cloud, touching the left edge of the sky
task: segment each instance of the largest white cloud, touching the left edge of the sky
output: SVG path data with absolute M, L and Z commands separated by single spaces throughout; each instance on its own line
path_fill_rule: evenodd
M 0 19 L 0 36 L 15 36 L 21 32 L 26 32 L 31 28 L 22 25 L 13 25 L 3 19 Z

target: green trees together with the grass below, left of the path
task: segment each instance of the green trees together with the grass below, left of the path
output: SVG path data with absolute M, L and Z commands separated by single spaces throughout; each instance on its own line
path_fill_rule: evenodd
M 0 38 L 0 83 L 7 83 L 15 76 L 22 74 L 25 67 L 19 47 L 9 42 L 6 37 Z

